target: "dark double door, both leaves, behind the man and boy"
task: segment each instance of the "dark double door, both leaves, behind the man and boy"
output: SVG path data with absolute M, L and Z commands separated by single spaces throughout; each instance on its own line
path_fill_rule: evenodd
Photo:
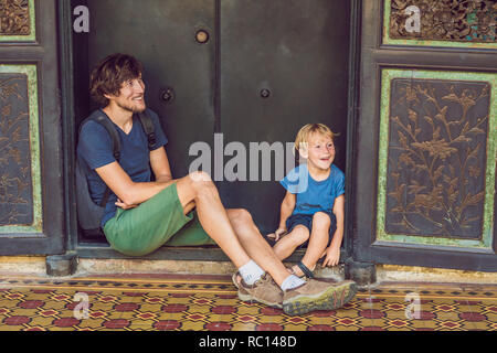
M 74 36 L 76 71 L 84 73 L 75 77 L 77 120 L 94 108 L 86 87 L 97 61 L 114 52 L 135 55 L 145 65 L 148 106 L 169 138 L 173 176 L 186 175 L 201 157 L 189 156 L 190 147 L 207 142 L 223 203 L 247 208 L 263 233 L 277 226 L 284 190 L 275 152 L 269 180 L 262 153 L 258 174 L 253 172 L 251 159 L 257 156 L 251 142 L 285 146 L 303 125 L 325 122 L 340 132 L 336 163 L 345 170 L 348 1 L 73 1 L 77 4 L 87 6 L 91 15 L 89 32 Z M 215 143 L 214 133 L 220 133 Z M 246 170 L 237 170 L 235 181 L 224 173 L 236 157 L 223 150 L 230 142 L 246 152 Z

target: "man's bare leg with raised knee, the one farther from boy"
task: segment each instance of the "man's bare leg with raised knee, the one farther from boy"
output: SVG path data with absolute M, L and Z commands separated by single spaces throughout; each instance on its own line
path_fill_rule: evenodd
M 218 189 L 209 174 L 194 172 L 176 180 L 176 183 L 184 214 L 197 207 L 199 221 L 205 233 L 219 245 L 236 268 L 247 264 L 251 258 L 236 237 Z

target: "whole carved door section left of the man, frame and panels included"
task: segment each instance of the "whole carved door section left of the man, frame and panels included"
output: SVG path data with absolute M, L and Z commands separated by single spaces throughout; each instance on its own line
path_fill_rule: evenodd
M 55 1 L 7 1 L 0 23 L 0 255 L 61 254 Z

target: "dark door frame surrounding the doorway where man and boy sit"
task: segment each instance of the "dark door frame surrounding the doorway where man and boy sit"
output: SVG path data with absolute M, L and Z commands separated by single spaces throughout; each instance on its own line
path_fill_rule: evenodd
M 216 7 L 219 8 L 216 0 Z M 63 151 L 65 181 L 65 225 L 67 229 L 66 248 L 76 252 L 82 258 L 137 258 L 129 257 L 113 250 L 107 244 L 102 243 L 80 243 L 77 235 L 77 214 L 75 197 L 75 109 L 74 109 L 74 62 L 73 62 L 73 9 L 71 1 L 59 0 L 59 43 L 60 43 L 60 68 L 61 68 L 61 99 L 62 99 L 62 129 L 63 129 Z M 351 0 L 350 8 L 350 41 L 349 41 L 349 84 L 348 84 L 348 122 L 347 122 L 347 165 L 346 183 L 351 185 L 346 189 L 345 237 L 340 263 L 349 261 L 352 257 L 352 210 L 355 208 L 353 197 L 353 168 L 356 153 L 356 120 L 359 113 L 359 65 L 360 65 L 360 21 L 361 0 Z M 219 76 L 219 75 L 218 75 Z M 219 77 L 216 77 L 219 79 Z M 304 256 L 304 250 L 295 252 L 287 260 L 298 261 Z M 219 247 L 191 247 L 172 248 L 161 247 L 150 255 L 138 258 L 161 259 L 161 260 L 211 260 L 226 261 L 228 256 Z

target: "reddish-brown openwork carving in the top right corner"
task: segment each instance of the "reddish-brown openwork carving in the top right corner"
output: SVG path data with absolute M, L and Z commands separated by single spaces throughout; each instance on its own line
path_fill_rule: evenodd
M 408 32 L 405 9 L 420 9 L 420 32 Z M 459 42 L 497 41 L 497 0 L 391 0 L 390 36 Z

